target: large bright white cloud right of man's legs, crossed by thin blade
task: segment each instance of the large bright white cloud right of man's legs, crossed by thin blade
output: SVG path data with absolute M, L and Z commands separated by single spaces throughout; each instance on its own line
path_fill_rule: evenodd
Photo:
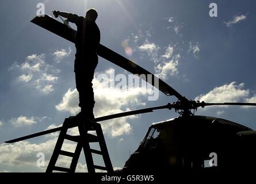
M 108 82 L 94 79 L 95 94 L 95 115 L 97 117 L 106 116 L 114 113 L 121 113 L 135 109 L 136 106 L 145 105 L 140 101 L 140 89 L 133 88 L 128 91 L 113 89 L 108 87 Z M 132 126 L 128 120 L 137 118 L 137 116 L 127 116 L 102 122 L 104 132 L 112 136 L 120 136 L 132 132 Z

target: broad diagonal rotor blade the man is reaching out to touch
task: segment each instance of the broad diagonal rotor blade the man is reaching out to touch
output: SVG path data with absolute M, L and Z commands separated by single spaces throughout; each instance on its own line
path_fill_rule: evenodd
M 57 34 L 60 37 L 63 37 L 68 41 L 71 41 L 72 43 L 75 43 L 76 31 L 74 29 L 68 28 L 66 25 L 62 24 L 61 22 L 55 20 L 50 16 L 44 15 L 41 17 L 35 17 L 31 22 L 33 22 L 36 25 L 39 25 L 41 28 L 47 29 L 50 32 Z M 150 83 L 152 86 L 156 87 L 167 96 L 174 95 L 180 101 L 188 101 L 185 97 L 179 94 L 171 86 L 167 85 L 167 83 L 163 82 L 161 79 L 153 75 L 151 72 L 138 66 L 131 60 L 119 55 L 119 53 L 112 51 L 104 45 L 100 44 L 100 46 L 97 49 L 97 53 L 104 59 L 109 60 L 109 62 L 112 62 L 117 66 L 124 68 L 132 74 L 138 75 L 144 81 Z

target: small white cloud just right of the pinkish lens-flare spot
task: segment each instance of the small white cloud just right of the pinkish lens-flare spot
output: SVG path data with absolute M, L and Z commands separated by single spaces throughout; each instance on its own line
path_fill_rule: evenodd
M 158 63 L 158 50 L 159 47 L 155 43 L 150 43 L 147 39 L 143 45 L 140 45 L 139 47 L 140 51 L 146 51 L 148 53 L 148 56 L 151 57 L 151 59 L 154 61 L 154 63 Z

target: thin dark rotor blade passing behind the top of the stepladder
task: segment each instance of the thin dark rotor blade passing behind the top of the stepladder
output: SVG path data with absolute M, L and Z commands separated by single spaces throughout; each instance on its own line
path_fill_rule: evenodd
M 132 110 L 132 111 L 118 113 L 118 114 L 111 114 L 111 115 L 108 115 L 108 116 L 102 116 L 102 117 L 95 118 L 94 121 L 98 122 L 98 121 L 111 120 L 111 119 L 114 119 L 114 118 L 131 116 L 131 115 L 136 115 L 136 114 L 150 113 L 150 112 L 153 112 L 153 110 L 157 110 L 157 109 L 170 109 L 171 110 L 172 105 L 167 104 L 167 105 L 163 105 L 163 106 L 156 106 L 156 107 L 153 107 L 153 108 Z M 28 136 L 23 136 L 23 137 L 19 137 L 17 139 L 8 140 L 8 141 L 5 141 L 5 143 L 16 143 L 16 142 L 21 141 L 21 140 L 31 139 L 33 137 L 43 136 L 43 135 L 46 135 L 48 133 L 58 132 L 61 129 L 62 129 L 62 127 L 53 128 L 53 129 L 49 129 L 47 131 L 37 132 L 37 133 L 33 133 L 31 135 L 28 135 Z

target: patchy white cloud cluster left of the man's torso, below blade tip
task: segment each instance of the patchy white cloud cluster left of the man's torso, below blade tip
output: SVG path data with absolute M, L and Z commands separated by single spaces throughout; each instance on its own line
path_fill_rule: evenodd
M 18 82 L 25 82 L 43 94 L 54 91 L 54 84 L 59 79 L 58 76 L 55 76 L 59 70 L 45 62 L 44 54 L 27 56 L 24 63 L 17 64 L 15 62 L 10 70 L 21 73 L 17 78 Z

